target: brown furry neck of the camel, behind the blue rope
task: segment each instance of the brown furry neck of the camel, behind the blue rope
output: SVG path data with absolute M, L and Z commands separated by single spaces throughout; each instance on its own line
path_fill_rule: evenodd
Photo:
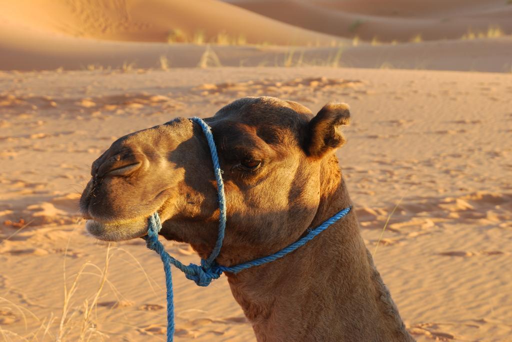
M 316 226 L 351 205 L 340 182 Z M 353 211 L 295 252 L 229 275 L 258 341 L 413 341 L 362 240 Z

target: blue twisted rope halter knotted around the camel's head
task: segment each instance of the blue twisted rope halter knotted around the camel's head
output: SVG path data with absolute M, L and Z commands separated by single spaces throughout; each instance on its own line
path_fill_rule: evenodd
M 260 266 L 279 258 L 284 257 L 285 255 L 293 252 L 295 249 L 303 246 L 308 241 L 313 239 L 318 234 L 325 231 L 331 224 L 339 220 L 340 218 L 347 215 L 347 213 L 351 210 L 352 207 L 348 207 L 343 209 L 342 211 L 337 212 L 331 218 L 327 219 L 324 223 L 316 227 L 314 230 L 311 230 L 308 235 L 303 237 L 300 240 L 295 241 L 288 247 L 281 249 L 279 252 L 271 254 L 269 256 L 255 259 L 249 262 L 245 262 L 243 264 L 225 267 L 218 265 L 215 259 L 219 256 L 219 253 L 222 248 L 222 242 L 224 241 L 224 232 L 226 230 L 226 198 L 224 194 L 224 182 L 222 180 L 222 170 L 219 165 L 219 156 L 217 154 L 217 147 L 215 146 L 214 136 L 211 133 L 210 127 L 206 122 L 204 122 L 200 118 L 192 118 L 192 121 L 196 122 L 201 126 L 204 135 L 206 136 L 206 140 L 208 141 L 208 147 L 210 148 L 211 159 L 214 163 L 214 173 L 215 178 L 217 179 L 217 191 L 218 191 L 218 200 L 219 200 L 219 210 L 220 210 L 220 219 L 219 219 L 219 234 L 217 237 L 217 242 L 215 243 L 215 247 L 212 250 L 210 256 L 205 260 L 201 259 L 201 265 L 189 264 L 188 266 L 183 265 L 179 260 L 170 256 L 162 245 L 162 243 L 158 240 L 158 233 L 162 229 L 162 223 L 160 222 L 160 216 L 158 213 L 154 213 L 148 222 L 147 235 L 143 237 L 146 240 L 147 248 L 153 249 L 156 253 L 160 255 L 160 259 L 163 262 L 163 268 L 165 271 L 165 286 L 167 288 L 167 342 L 173 342 L 174 336 L 174 294 L 173 294 L 173 278 L 170 272 L 170 265 L 173 264 L 183 273 L 185 273 L 185 277 L 189 280 L 193 280 L 199 286 L 208 286 L 212 280 L 218 279 L 223 272 L 231 272 L 238 273 L 244 269 Z

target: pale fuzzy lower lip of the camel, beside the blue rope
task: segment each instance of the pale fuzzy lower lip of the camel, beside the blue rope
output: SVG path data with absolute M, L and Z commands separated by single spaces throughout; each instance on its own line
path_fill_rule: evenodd
M 89 219 L 86 222 L 86 230 L 98 240 L 131 240 L 147 234 L 147 217 L 140 217 L 131 221 L 109 223 Z

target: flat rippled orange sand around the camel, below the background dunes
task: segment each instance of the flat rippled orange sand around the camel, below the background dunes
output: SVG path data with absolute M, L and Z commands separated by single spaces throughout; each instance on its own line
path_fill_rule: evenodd
M 177 116 L 208 117 L 247 95 L 313 111 L 332 100 L 351 105 L 340 165 L 362 235 L 418 341 L 511 340 L 509 75 L 224 67 L 3 72 L 0 80 L 5 340 L 79 338 L 84 301 L 94 303 L 108 253 L 86 235 L 77 212 L 91 162 L 118 136 Z M 185 263 L 198 259 L 186 244 L 165 246 Z M 163 340 L 158 256 L 142 240 L 111 244 L 109 253 L 86 334 Z M 70 292 L 84 265 L 66 307 L 64 284 Z M 199 288 L 175 270 L 174 283 L 177 340 L 255 340 L 225 278 Z

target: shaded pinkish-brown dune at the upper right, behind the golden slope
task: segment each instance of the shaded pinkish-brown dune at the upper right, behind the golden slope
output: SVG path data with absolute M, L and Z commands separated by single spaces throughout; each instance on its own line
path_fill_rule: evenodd
M 512 33 L 512 6 L 503 0 L 228 0 L 288 24 L 341 37 L 409 41 L 460 38 L 499 27 Z

